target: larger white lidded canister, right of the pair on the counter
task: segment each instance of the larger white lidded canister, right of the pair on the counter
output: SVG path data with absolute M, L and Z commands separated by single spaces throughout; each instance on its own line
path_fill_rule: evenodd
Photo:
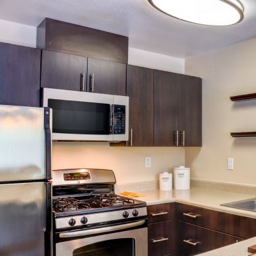
M 173 169 L 174 189 L 190 189 L 190 168 L 185 166 Z

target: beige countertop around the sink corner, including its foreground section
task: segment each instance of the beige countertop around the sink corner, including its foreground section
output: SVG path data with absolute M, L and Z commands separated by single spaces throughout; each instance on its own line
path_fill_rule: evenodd
M 227 212 L 230 214 L 237 214 L 239 216 L 256 219 L 256 212 L 233 209 L 220 205 L 228 202 L 255 198 L 256 196 L 253 195 L 253 193 L 244 194 L 207 188 L 191 188 L 188 190 L 173 189 L 171 191 L 149 189 L 132 192 L 144 195 L 141 197 L 137 197 L 137 199 L 145 201 L 147 205 L 163 204 L 167 202 L 179 202 L 183 204 L 194 205 L 197 207 L 204 207 L 205 209 Z M 231 244 L 229 246 L 218 248 L 216 250 L 212 250 L 206 253 L 201 253 L 200 256 L 248 256 L 251 254 L 248 253 L 248 246 L 252 246 L 253 244 L 256 244 L 256 237 L 246 239 L 245 241 Z

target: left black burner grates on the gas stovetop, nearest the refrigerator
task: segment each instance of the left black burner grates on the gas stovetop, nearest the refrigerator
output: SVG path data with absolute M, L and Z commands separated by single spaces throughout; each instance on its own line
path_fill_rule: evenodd
M 55 212 L 69 212 L 90 208 L 90 204 L 76 198 L 56 198 L 52 200 Z

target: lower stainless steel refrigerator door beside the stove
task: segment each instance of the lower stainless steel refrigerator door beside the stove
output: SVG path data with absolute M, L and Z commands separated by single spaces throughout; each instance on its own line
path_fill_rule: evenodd
M 0 195 L 0 255 L 51 255 L 51 182 L 1 184 Z

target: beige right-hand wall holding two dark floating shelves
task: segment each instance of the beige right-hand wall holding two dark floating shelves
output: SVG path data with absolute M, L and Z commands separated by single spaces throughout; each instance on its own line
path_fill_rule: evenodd
M 185 73 L 203 81 L 203 147 L 186 148 L 191 177 L 256 184 L 256 137 L 230 132 L 256 131 L 256 100 L 232 102 L 230 96 L 256 93 L 256 38 L 185 61 Z M 227 170 L 227 158 L 234 170 Z

